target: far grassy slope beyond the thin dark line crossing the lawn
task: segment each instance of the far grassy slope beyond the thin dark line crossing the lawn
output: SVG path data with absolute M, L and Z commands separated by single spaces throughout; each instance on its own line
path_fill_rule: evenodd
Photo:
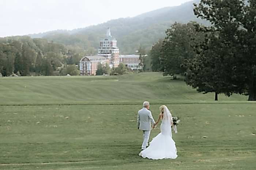
M 182 80 L 170 80 L 161 73 L 124 76 L 18 77 L 0 79 L 1 104 L 79 104 L 213 101 L 214 94 L 202 95 Z M 220 100 L 246 101 L 233 95 Z

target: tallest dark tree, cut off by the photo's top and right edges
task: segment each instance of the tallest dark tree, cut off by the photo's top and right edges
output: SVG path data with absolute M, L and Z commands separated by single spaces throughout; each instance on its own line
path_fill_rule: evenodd
M 223 42 L 233 49 L 222 55 L 230 65 L 226 70 L 230 74 L 229 83 L 236 87 L 229 92 L 248 94 L 248 100 L 256 100 L 255 4 L 256 0 L 201 0 L 194 4 L 195 15 L 212 24 L 203 29 L 218 31 L 219 39 L 212 41 Z

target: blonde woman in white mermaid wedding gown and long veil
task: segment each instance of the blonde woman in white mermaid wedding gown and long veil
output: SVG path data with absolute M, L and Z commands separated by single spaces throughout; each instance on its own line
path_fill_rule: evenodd
M 161 119 L 161 133 L 152 139 L 150 145 L 141 151 L 139 156 L 149 159 L 175 159 L 178 155 L 175 142 L 172 139 L 172 114 L 165 105 L 160 106 L 160 111 L 158 120 L 153 128 L 155 128 Z

